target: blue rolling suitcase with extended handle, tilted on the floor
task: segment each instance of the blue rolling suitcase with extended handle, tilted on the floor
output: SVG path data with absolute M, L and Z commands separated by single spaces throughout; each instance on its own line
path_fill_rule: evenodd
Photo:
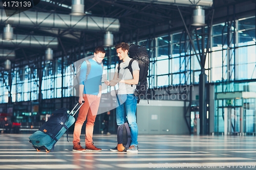
M 29 142 L 32 143 L 32 147 L 34 147 L 36 151 L 45 150 L 46 152 L 50 152 L 54 150 L 55 143 L 66 131 L 68 131 L 69 127 L 75 123 L 74 115 L 84 104 L 84 101 L 76 112 L 71 115 L 78 104 L 79 103 L 76 104 L 70 113 L 67 112 L 68 110 L 66 108 L 53 111 L 49 120 L 29 136 Z

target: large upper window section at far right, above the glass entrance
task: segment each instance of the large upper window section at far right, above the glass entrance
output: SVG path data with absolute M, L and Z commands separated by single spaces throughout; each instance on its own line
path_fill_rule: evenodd
M 255 17 L 233 22 L 212 28 L 212 82 L 256 78 Z

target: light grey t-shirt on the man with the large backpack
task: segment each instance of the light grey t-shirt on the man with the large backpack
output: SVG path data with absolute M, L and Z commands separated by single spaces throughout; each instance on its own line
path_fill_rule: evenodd
M 129 68 L 124 69 L 129 65 L 129 62 L 132 59 L 130 58 L 126 62 L 121 62 L 120 63 L 120 71 L 119 71 L 119 79 L 123 80 L 131 80 L 133 79 L 133 76 L 129 70 Z M 116 65 L 115 72 L 118 72 L 118 64 Z M 140 70 L 138 61 L 134 60 L 132 63 L 132 69 L 133 71 L 135 70 Z M 125 83 L 118 83 L 118 94 L 133 94 L 134 90 L 136 89 L 136 85 L 131 85 L 131 84 L 125 84 Z

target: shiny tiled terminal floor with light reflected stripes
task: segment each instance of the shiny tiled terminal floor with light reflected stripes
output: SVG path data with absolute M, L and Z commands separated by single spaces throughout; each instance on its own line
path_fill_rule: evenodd
M 29 135 L 0 134 L 0 169 L 256 169 L 254 136 L 139 135 L 131 154 L 109 151 L 116 135 L 94 135 L 102 151 L 82 153 L 72 152 L 72 135 L 49 153 L 32 148 Z

